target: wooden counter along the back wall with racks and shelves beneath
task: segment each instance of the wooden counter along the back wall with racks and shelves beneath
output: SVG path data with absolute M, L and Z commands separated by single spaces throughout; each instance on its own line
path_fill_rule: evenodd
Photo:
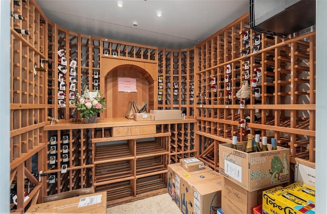
M 78 122 L 80 128 L 69 129 L 72 123 L 45 126 L 49 131 L 49 152 L 45 165 L 54 183 L 46 181 L 46 193 L 52 195 L 70 188 L 95 186 L 107 191 L 107 205 L 133 201 L 166 192 L 167 165 L 196 154 L 194 119 L 169 121 L 131 121 L 126 118 L 105 119 L 97 124 Z M 155 124 L 156 133 L 113 137 L 113 129 L 125 126 Z M 83 127 L 83 128 L 81 128 Z M 67 139 L 64 142 L 65 136 Z M 51 139 L 56 137 L 56 143 Z M 50 158 L 56 145 L 55 168 Z M 68 148 L 68 163 L 63 163 L 63 146 Z M 63 164 L 67 172 L 62 172 Z M 78 178 L 80 185 L 72 180 Z M 119 192 L 121 191 L 121 192 Z

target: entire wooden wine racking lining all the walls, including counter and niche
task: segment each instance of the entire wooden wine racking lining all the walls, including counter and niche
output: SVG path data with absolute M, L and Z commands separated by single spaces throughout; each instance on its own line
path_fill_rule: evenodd
M 168 164 L 195 156 L 218 170 L 219 144 L 230 143 L 232 136 L 245 141 L 247 132 L 276 138 L 290 148 L 293 163 L 314 165 L 315 31 L 270 37 L 250 29 L 245 14 L 195 47 L 174 50 L 71 32 L 48 20 L 35 0 L 12 3 L 11 11 L 24 17 L 12 19 L 10 29 L 11 182 L 17 182 L 11 211 L 24 212 L 43 195 L 89 186 L 107 191 L 108 206 L 165 192 Z M 47 71 L 35 73 L 42 60 Z M 118 73 L 141 79 L 137 96 L 112 92 Z M 251 87 L 251 79 L 261 85 Z M 238 98 L 245 81 L 260 93 Z M 80 121 L 74 104 L 85 86 L 107 98 L 107 111 L 96 125 Z M 186 119 L 126 122 L 120 118 L 126 103 L 118 99 L 148 101 L 149 109 L 179 109 Z M 250 130 L 239 123 L 247 116 Z M 50 125 L 49 118 L 57 124 Z M 114 127 L 129 123 L 155 125 L 156 133 L 112 136 Z M 39 182 L 31 172 L 40 171 L 47 175 Z M 26 201 L 25 176 L 35 184 Z

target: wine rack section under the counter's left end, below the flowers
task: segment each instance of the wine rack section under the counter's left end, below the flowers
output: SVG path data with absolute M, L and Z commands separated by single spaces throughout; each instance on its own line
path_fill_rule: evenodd
M 50 130 L 45 158 L 46 193 L 53 195 L 87 188 L 91 182 L 89 129 Z

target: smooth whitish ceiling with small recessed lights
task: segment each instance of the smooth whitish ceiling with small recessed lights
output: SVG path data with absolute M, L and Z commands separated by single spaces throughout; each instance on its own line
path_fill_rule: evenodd
M 169 49 L 193 47 L 249 10 L 249 0 L 123 2 L 37 0 L 49 20 L 75 33 Z

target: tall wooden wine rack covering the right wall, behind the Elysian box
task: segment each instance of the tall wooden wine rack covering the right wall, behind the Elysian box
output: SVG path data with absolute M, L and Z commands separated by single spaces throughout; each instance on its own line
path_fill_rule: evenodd
M 250 48 L 259 45 L 255 52 Z M 246 129 L 250 128 L 252 135 L 260 132 L 290 148 L 293 163 L 295 157 L 314 162 L 314 49 L 315 32 L 270 37 L 249 29 L 247 15 L 197 45 L 195 85 L 199 98 L 195 118 L 199 158 L 218 169 L 217 144 L 230 143 L 232 136 L 245 141 Z M 260 77 L 255 68 L 261 69 Z M 260 86 L 251 85 L 254 78 L 260 78 Z M 260 89 L 259 96 L 250 92 L 246 100 L 237 97 L 245 81 L 250 90 Z M 240 100 L 245 102 L 243 107 Z M 262 114 L 259 121 L 253 119 L 256 112 Z M 243 128 L 239 121 L 246 116 L 250 116 L 250 122 Z

